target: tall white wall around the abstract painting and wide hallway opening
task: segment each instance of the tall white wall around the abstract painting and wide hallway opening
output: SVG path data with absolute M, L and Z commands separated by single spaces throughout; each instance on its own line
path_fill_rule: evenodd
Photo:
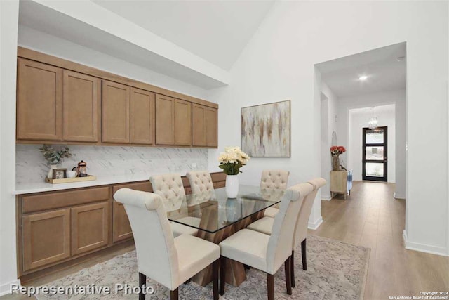
M 407 126 L 413 133 L 408 136 L 406 244 L 447 254 L 448 192 L 434 182 L 448 178 L 447 168 L 441 167 L 448 162 L 446 2 L 276 2 L 232 68 L 230 86 L 211 93 L 221 106 L 220 149 L 210 150 L 210 168 L 217 168 L 216 157 L 225 146 L 240 145 L 241 107 L 291 99 L 292 157 L 252 159 L 241 181 L 258 183 L 266 168 L 290 170 L 290 185 L 319 176 L 314 64 L 403 41 Z M 422 155 L 422 149 L 431 149 L 431 155 Z

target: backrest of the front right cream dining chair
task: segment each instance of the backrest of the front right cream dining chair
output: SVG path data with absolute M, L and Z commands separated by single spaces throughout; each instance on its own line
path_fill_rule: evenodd
M 307 194 L 313 190 L 309 183 L 299 183 L 286 190 L 279 213 L 274 217 L 272 235 L 267 247 L 267 272 L 274 274 L 292 252 L 297 215 Z

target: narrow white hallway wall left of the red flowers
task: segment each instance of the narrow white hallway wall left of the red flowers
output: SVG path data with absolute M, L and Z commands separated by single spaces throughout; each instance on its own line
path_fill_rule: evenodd
M 321 99 L 321 177 L 326 179 L 326 185 L 321 188 L 321 200 L 330 200 L 329 183 L 332 164 L 329 149 L 332 145 L 332 133 L 337 131 L 337 122 L 335 122 L 337 96 L 324 81 L 321 81 L 321 93 L 326 97 Z

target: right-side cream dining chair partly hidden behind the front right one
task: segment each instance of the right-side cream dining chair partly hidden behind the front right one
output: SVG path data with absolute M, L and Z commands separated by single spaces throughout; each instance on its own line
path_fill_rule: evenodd
M 307 250 L 306 250 L 306 239 L 307 239 L 307 225 L 309 223 L 309 217 L 311 213 L 311 208 L 314 205 L 314 200 L 318 190 L 326 185 L 326 180 L 324 178 L 314 178 L 308 183 L 313 187 L 313 191 L 304 197 L 300 212 L 297 216 L 295 235 L 293 239 L 292 248 L 292 258 L 291 268 L 292 268 L 292 287 L 295 287 L 295 268 L 294 268 L 294 257 L 295 249 L 301 243 L 301 256 L 302 256 L 302 269 L 307 270 Z M 274 226 L 274 219 L 264 216 L 263 218 L 251 223 L 247 228 L 250 230 L 255 230 L 266 235 L 272 235 L 272 230 Z

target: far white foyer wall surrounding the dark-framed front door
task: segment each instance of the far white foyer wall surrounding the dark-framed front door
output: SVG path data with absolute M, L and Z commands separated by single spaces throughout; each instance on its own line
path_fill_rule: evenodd
M 368 119 L 371 117 L 371 107 L 355 108 L 349 110 L 349 152 L 348 169 L 352 170 L 353 180 L 362 180 L 362 137 L 363 128 L 368 125 Z M 396 116 L 395 105 L 383 105 L 375 107 L 375 117 L 377 117 L 377 126 L 387 126 L 387 181 L 396 182 Z M 402 153 L 405 155 L 406 153 Z

